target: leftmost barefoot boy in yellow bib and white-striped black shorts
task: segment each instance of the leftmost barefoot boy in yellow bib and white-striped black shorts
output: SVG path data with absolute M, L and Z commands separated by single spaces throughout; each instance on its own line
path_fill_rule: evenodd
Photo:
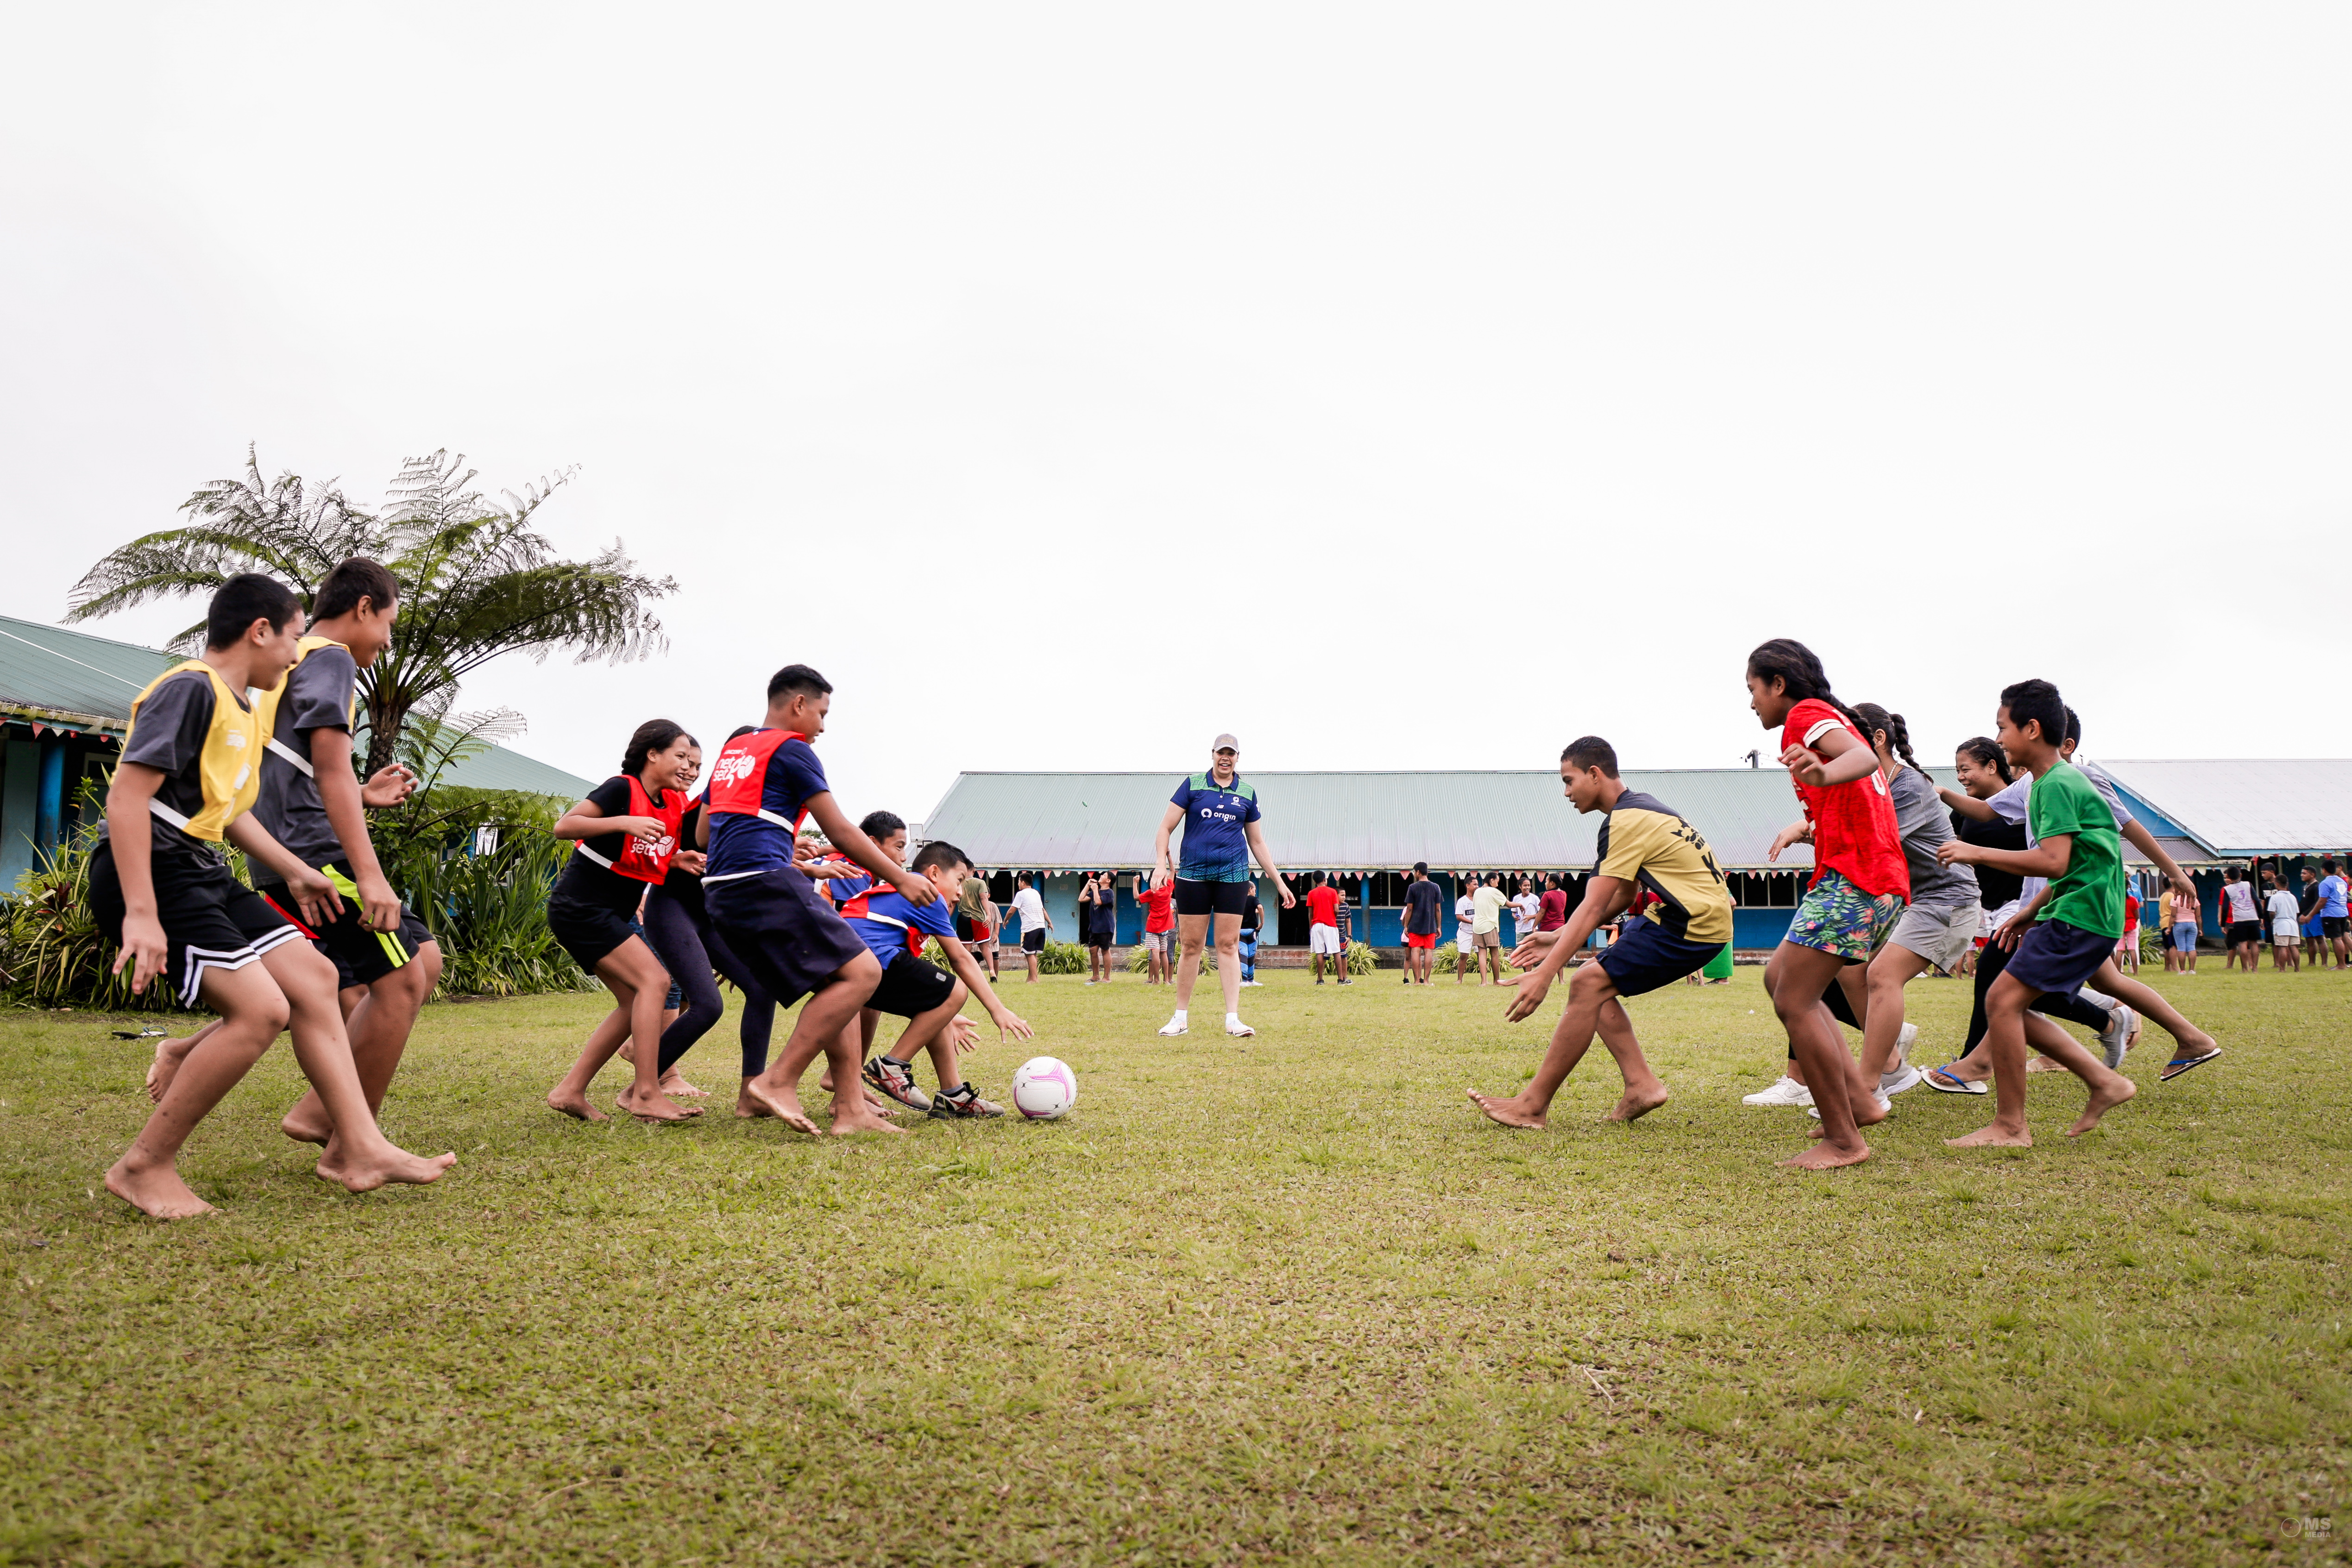
M 341 1133 L 325 1171 L 353 1192 L 430 1182 L 452 1161 L 419 1159 L 376 1128 L 350 1065 L 334 966 L 259 893 L 228 875 L 221 839 L 278 872 L 306 919 L 325 919 L 332 886 L 249 816 L 266 741 L 247 689 L 268 689 L 294 663 L 301 604 L 282 583 L 242 574 L 212 597 L 202 658 L 160 675 L 132 703 L 122 762 L 106 792 L 103 842 L 89 860 L 99 929 L 120 943 L 115 973 L 132 994 L 165 976 L 181 1006 L 202 999 L 221 1025 L 158 1065 L 155 1114 L 106 1173 L 106 1190 L 162 1220 L 200 1215 L 174 1168 L 198 1121 L 294 1027 L 294 1056 Z

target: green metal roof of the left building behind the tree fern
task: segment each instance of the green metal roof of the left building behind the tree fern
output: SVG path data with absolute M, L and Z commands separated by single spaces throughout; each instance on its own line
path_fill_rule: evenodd
M 120 738 L 132 717 L 132 698 L 179 661 L 179 654 L 136 642 L 0 616 L 0 717 L 45 719 Z M 442 783 L 569 799 L 595 788 L 588 778 L 503 745 L 466 757 Z

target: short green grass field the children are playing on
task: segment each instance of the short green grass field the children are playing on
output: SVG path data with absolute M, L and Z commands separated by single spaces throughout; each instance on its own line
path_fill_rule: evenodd
M 99 1190 L 146 1051 L 0 1016 L 0 1561 L 2343 1556 L 2352 976 L 2157 978 L 2220 1065 L 2150 1034 L 2082 1143 L 2039 1077 L 2027 1152 L 1922 1088 L 1811 1178 L 1755 969 L 1635 1004 L 1672 1105 L 1599 1124 L 1595 1051 L 1548 1133 L 1463 1103 L 1541 1048 L 1496 992 L 1268 980 L 1240 1044 L 1016 983 L 1070 1119 L 828 1145 L 564 1121 L 593 999 L 435 1006 L 386 1124 L 440 1187 L 308 1175 L 280 1046 L 186 1225 Z

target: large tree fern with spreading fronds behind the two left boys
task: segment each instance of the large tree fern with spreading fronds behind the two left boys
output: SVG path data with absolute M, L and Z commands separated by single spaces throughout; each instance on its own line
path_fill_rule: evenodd
M 449 712 L 459 682 L 501 654 L 579 663 L 621 663 L 668 646 L 654 604 L 677 592 L 652 578 L 614 541 L 602 555 L 562 559 L 532 517 L 572 470 L 501 491 L 503 503 L 468 489 L 475 470 L 447 449 L 407 458 L 381 512 L 353 505 L 336 482 L 285 473 L 261 480 L 254 449 L 245 475 L 214 480 L 179 510 L 191 522 L 120 545 L 73 585 L 66 621 L 94 621 L 134 604 L 209 595 L 240 571 L 266 571 L 303 604 L 334 564 L 367 555 L 400 581 L 393 646 L 360 672 L 367 710 L 367 764 L 400 755 L 412 712 Z M 172 646 L 200 649 L 205 623 Z

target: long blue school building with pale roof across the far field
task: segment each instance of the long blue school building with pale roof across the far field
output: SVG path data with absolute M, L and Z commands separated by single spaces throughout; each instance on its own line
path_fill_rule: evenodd
M 2223 867 L 2277 863 L 2293 875 L 2300 858 L 2352 844 L 2352 764 L 2347 762 L 2103 762 L 2126 806 L 2147 823 L 2164 851 L 2194 872 L 2204 891 L 2206 933 L 2218 936 L 2216 898 Z M 1952 785 L 1952 769 L 1929 769 Z M 1014 872 L 1030 872 L 1044 893 L 1054 940 L 1077 940 L 1077 886 L 1087 872 L 1120 872 L 1120 945 L 1141 940 L 1134 875 L 1152 863 L 1152 835 L 1181 771 L 1122 773 L 962 773 L 920 823 L 917 837 L 948 839 L 993 872 L 1000 905 Z M 1522 872 L 1592 870 L 1599 818 L 1578 816 L 1545 771 L 1414 773 L 1244 773 L 1265 813 L 1265 846 L 1291 872 L 1329 872 L 1355 905 L 1355 936 L 1374 947 L 1404 943 L 1404 877 L 1416 860 L 1444 891 L 1444 940 L 1454 938 L 1454 898 L 1472 875 L 1503 872 L 1505 893 Z M 1733 947 L 1766 952 L 1780 943 L 1813 875 L 1811 846 L 1766 860 L 1773 837 L 1797 816 L 1788 773 L 1766 769 L 1628 769 L 1625 783 L 1684 816 L 1715 851 L 1731 884 Z M 2147 860 L 2126 846 L 2140 891 L 2154 898 Z M 1272 882 L 1258 879 L 1268 943 L 1305 945 L 1303 905 L 1284 914 Z M 1571 891 L 1573 898 L 1573 891 Z M 2147 919 L 2154 919 L 2150 907 Z M 1505 917 L 1505 940 L 1515 940 Z

